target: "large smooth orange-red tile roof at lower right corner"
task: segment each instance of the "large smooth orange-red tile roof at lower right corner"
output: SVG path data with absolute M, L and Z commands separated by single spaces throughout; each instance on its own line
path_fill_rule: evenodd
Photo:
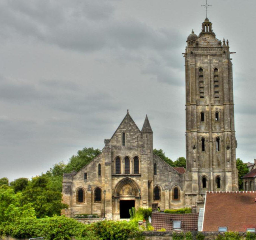
M 255 192 L 207 192 L 205 198 L 203 231 L 246 232 L 256 228 L 256 191 Z

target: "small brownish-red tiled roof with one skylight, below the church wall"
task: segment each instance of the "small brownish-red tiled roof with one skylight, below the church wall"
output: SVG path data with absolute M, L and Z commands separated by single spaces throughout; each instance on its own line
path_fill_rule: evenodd
M 154 230 L 165 228 L 172 231 L 173 221 L 181 221 L 181 229 L 184 231 L 197 231 L 198 213 L 171 214 L 171 213 L 152 213 L 152 226 Z

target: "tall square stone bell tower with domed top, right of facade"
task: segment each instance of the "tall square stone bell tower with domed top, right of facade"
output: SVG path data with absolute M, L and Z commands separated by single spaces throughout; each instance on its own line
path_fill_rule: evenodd
M 188 36 L 184 53 L 187 206 L 200 206 L 205 191 L 238 190 L 229 42 L 215 36 L 206 18 L 199 36 Z

